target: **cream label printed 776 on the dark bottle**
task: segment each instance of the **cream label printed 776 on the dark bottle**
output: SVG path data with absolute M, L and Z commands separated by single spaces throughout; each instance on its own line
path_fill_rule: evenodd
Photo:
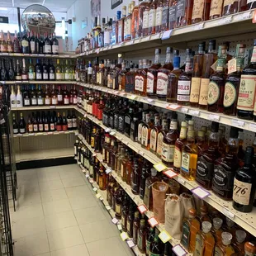
M 252 190 L 252 183 L 243 183 L 234 179 L 233 200 L 241 205 L 249 205 L 249 197 Z

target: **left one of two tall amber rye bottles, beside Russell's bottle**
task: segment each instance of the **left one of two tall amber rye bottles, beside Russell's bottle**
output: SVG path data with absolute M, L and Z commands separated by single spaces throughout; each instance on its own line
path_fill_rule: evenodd
M 203 55 L 205 54 L 205 44 L 198 45 L 198 53 L 193 58 L 192 84 L 190 92 L 190 106 L 198 107 L 199 92 L 201 83 L 201 71 L 203 64 Z

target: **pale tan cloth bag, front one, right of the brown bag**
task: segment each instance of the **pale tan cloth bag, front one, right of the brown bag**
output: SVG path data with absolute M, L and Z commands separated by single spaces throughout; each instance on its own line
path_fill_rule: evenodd
M 183 235 L 183 202 L 176 194 L 170 194 L 165 201 L 164 228 L 175 239 Z

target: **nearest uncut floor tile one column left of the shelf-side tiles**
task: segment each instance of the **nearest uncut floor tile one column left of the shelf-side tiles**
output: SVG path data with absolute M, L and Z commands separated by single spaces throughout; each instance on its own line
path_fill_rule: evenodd
M 83 236 L 78 226 L 53 230 L 48 232 L 50 251 L 64 249 L 79 244 L 84 244 Z

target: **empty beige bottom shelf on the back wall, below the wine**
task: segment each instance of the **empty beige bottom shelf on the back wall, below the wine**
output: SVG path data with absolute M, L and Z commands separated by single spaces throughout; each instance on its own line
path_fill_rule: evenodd
M 65 149 L 42 149 L 42 150 L 28 150 L 16 154 L 16 162 L 26 162 L 41 159 L 59 159 L 73 156 L 73 148 Z

